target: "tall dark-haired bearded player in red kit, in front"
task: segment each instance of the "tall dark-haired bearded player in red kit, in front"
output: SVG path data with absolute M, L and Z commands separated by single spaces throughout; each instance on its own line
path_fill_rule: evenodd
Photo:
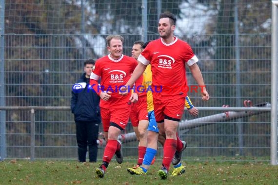
M 166 133 L 163 147 L 162 167 L 159 169 L 161 179 L 167 179 L 169 167 L 174 157 L 177 145 L 177 128 L 184 111 L 187 96 L 187 65 L 201 87 L 200 92 L 204 101 L 209 100 L 202 74 L 197 65 L 198 58 L 190 45 L 174 36 L 176 18 L 171 13 L 159 16 L 158 31 L 161 38 L 151 41 L 138 58 L 139 64 L 126 83 L 133 84 L 151 64 L 154 111 L 159 126 L 159 134 Z M 122 87 L 122 91 L 126 88 Z M 120 92 L 125 95 L 126 93 Z

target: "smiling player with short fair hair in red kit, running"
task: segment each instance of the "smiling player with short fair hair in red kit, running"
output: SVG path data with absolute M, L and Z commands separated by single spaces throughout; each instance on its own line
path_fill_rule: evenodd
M 122 55 L 123 37 L 110 35 L 106 37 L 106 42 L 110 54 L 96 61 L 90 76 L 90 85 L 100 96 L 100 115 L 107 141 L 102 164 L 96 169 L 100 178 L 104 176 L 114 154 L 117 162 L 122 163 L 121 143 L 117 139 L 128 123 L 131 102 L 138 101 L 138 94 L 131 94 L 129 90 L 127 93 L 130 96 L 119 94 L 119 88 L 127 83 L 138 64 L 137 61 L 133 57 Z

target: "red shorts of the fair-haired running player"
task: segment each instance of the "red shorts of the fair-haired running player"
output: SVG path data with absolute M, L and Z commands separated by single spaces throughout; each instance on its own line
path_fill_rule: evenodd
M 103 131 L 107 132 L 110 126 L 110 122 L 115 123 L 121 129 L 125 129 L 129 114 L 131 111 L 131 105 L 126 105 L 119 108 L 100 108 L 101 121 L 103 126 Z

